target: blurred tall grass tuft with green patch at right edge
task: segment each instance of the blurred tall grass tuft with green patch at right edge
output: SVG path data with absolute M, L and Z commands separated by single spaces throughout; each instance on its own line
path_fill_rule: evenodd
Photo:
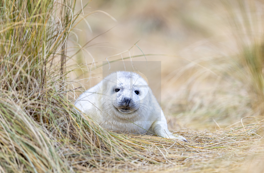
M 238 46 L 238 69 L 248 90 L 254 115 L 264 115 L 263 2 L 223 1 Z M 232 7 L 238 7 L 233 10 Z

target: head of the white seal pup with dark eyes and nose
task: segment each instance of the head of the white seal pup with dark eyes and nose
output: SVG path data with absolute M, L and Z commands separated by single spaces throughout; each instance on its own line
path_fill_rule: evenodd
M 103 80 L 104 107 L 120 118 L 142 115 L 148 100 L 147 82 L 137 73 L 119 71 Z M 111 108 L 109 108 L 111 107 Z

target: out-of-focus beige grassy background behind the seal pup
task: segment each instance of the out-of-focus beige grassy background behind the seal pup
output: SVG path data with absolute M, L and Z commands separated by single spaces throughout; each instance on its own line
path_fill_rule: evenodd
M 92 63 L 91 69 L 106 57 L 156 54 L 146 58 L 161 61 L 161 105 L 169 128 L 226 128 L 263 115 L 262 7 L 262 1 L 92 1 L 85 12 L 111 16 L 96 11 L 78 25 L 80 45 L 99 36 L 76 59 Z M 82 84 L 87 89 L 100 80 Z

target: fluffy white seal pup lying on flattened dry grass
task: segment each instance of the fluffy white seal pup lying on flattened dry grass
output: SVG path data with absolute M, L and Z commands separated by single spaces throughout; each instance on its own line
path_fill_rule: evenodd
M 116 133 L 157 134 L 187 140 L 169 132 L 167 121 L 147 82 L 137 73 L 111 73 L 82 93 L 74 104 L 103 128 Z

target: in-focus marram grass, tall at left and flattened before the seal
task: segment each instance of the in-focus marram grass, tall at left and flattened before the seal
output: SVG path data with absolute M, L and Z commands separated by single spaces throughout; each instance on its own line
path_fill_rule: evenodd
M 115 134 L 82 118 L 65 69 L 74 6 L 0 2 L 0 172 L 227 171 L 263 151 L 258 117 L 218 132 L 179 130 L 189 143 Z

